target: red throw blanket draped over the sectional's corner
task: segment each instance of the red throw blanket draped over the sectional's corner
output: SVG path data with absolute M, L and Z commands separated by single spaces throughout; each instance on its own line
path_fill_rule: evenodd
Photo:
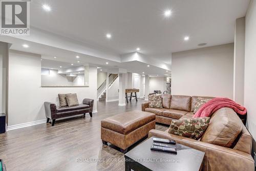
M 201 108 L 197 111 L 197 113 L 193 116 L 194 118 L 199 117 L 210 117 L 211 114 L 215 113 L 217 110 L 221 108 L 231 108 L 234 112 L 240 115 L 246 115 L 247 110 L 244 106 L 234 102 L 229 98 L 214 98 L 207 103 L 205 103 Z

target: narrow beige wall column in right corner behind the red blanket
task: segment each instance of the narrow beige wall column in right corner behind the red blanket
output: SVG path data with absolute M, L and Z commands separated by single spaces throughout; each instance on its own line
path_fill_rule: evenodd
M 233 100 L 244 104 L 245 17 L 236 20 L 234 30 Z

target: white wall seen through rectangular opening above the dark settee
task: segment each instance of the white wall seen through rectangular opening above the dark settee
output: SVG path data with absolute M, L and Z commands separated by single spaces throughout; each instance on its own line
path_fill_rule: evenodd
M 50 70 L 49 75 L 41 75 L 41 86 L 84 86 L 84 74 L 67 77 L 66 74 L 58 74 L 58 70 Z

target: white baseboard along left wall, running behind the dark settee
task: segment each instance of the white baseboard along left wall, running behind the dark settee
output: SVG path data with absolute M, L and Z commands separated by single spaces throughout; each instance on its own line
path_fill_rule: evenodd
M 93 113 L 97 113 L 97 112 L 98 112 L 97 109 L 93 110 Z M 83 115 L 83 114 L 81 114 L 80 116 L 82 116 L 82 115 Z M 86 115 L 89 115 L 89 113 L 87 113 Z M 79 115 L 74 115 L 74 116 L 79 116 Z M 62 119 L 67 119 L 67 118 L 73 118 L 74 116 L 68 116 L 68 117 L 59 118 L 59 119 L 56 119 L 56 120 L 62 120 Z M 16 125 L 7 126 L 7 131 L 16 130 L 16 129 L 21 129 L 21 128 L 23 128 L 23 127 L 38 125 L 38 124 L 42 124 L 42 123 L 46 123 L 46 119 L 42 119 L 42 120 L 37 120 L 37 121 L 33 121 L 33 122 L 20 123 L 20 124 L 16 124 Z

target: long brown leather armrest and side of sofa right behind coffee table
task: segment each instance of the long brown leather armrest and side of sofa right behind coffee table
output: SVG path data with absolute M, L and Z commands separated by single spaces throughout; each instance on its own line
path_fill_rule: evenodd
M 174 139 L 177 143 L 205 152 L 204 170 L 254 170 L 254 161 L 251 155 L 237 149 L 209 144 L 159 130 L 151 130 L 148 137 L 152 136 Z

